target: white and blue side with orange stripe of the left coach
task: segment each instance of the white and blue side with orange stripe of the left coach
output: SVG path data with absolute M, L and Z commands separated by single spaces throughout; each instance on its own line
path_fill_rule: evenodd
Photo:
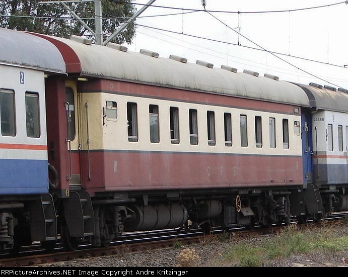
M 0 194 L 48 192 L 44 73 L 0 65 Z

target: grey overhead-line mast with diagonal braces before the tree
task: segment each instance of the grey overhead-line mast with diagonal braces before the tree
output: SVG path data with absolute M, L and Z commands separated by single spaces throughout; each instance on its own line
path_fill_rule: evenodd
M 96 30 L 93 31 L 88 25 L 83 22 L 77 14 L 75 14 L 65 3 L 76 3 L 76 2 L 94 2 L 94 18 L 96 22 Z M 142 14 L 147 8 L 151 6 L 156 0 L 150 0 L 147 5 L 145 5 L 142 9 L 140 9 L 137 13 L 135 13 L 130 19 L 128 19 L 122 26 L 114 32 L 110 37 L 107 38 L 105 42 L 103 42 L 103 17 L 102 17 L 102 2 L 101 0 L 62 0 L 62 1 L 40 1 L 40 4 L 52 4 L 59 3 L 63 5 L 69 13 L 71 13 L 77 20 L 84 25 L 88 31 L 90 31 L 95 39 L 96 44 L 98 45 L 106 45 L 110 40 L 112 40 L 115 36 L 117 36 L 124 28 L 128 26 L 128 24 L 132 23 L 140 14 Z

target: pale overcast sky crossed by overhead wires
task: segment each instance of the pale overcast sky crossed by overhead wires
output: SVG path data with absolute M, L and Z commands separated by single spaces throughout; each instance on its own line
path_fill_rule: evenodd
M 202 0 L 156 0 L 136 19 L 136 35 L 125 45 L 128 51 L 147 49 L 160 57 L 173 54 L 192 63 L 202 60 L 217 68 L 228 65 L 239 72 L 348 89 L 344 1 L 203 2 L 204 7 Z

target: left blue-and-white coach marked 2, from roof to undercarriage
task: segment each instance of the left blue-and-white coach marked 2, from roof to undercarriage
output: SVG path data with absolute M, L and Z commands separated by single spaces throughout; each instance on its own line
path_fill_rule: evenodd
M 45 74 L 64 72 L 62 56 L 52 44 L 23 32 L 0 28 L 0 244 L 3 248 L 16 247 L 19 241 L 30 237 L 39 241 L 56 240 L 54 206 L 48 194 Z M 46 215 L 43 206 L 47 208 Z M 26 216 L 29 211 L 30 220 Z M 45 220 L 48 222 L 49 218 L 52 223 L 48 226 Z

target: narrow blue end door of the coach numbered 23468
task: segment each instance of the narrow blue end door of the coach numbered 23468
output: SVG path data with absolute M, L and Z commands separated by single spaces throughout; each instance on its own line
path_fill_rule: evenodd
M 303 112 L 301 121 L 303 180 L 306 185 L 312 182 L 313 174 L 312 121 L 310 114 Z

